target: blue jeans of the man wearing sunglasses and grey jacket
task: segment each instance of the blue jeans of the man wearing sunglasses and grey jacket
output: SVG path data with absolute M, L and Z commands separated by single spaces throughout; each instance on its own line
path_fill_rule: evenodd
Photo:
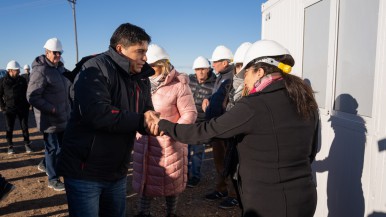
M 57 180 L 56 163 L 62 146 L 63 132 L 43 133 L 48 180 Z

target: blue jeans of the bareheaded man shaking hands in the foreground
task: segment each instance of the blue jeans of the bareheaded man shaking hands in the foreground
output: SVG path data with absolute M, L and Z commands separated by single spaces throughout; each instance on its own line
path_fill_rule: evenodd
M 70 217 L 124 217 L 127 177 L 114 182 L 64 177 Z

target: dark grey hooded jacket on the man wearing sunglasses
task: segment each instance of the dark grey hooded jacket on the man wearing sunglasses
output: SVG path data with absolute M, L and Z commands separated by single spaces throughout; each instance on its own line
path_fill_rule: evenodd
M 59 62 L 55 67 L 45 55 L 36 57 L 27 89 L 27 100 L 34 107 L 36 125 L 41 132 L 63 132 L 70 118 L 70 81 L 63 76 L 66 69 Z

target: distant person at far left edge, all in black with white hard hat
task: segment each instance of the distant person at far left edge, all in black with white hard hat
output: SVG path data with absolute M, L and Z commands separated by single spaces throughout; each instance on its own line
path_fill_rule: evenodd
M 20 65 L 15 60 L 7 64 L 7 74 L 0 80 L 0 106 L 5 116 L 8 154 L 14 154 L 13 129 L 16 117 L 19 118 L 27 153 L 32 152 L 28 133 L 29 104 L 26 98 L 27 81 L 19 75 Z

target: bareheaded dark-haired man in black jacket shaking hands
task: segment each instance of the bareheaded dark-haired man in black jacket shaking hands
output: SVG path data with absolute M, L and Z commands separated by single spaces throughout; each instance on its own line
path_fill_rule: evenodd
M 75 79 L 58 162 L 70 216 L 125 216 L 130 154 L 153 109 L 150 41 L 142 28 L 120 25 L 109 50 L 86 61 Z

